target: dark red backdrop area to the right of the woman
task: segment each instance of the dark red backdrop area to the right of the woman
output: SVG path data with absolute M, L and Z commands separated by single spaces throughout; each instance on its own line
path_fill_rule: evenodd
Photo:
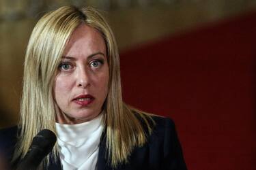
M 120 54 L 126 103 L 175 121 L 188 169 L 256 169 L 256 13 Z

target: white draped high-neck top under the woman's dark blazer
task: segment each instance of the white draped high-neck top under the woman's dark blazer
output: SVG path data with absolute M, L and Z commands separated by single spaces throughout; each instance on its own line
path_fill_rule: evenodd
M 81 124 L 56 123 L 59 157 L 63 170 L 96 169 L 103 113 Z

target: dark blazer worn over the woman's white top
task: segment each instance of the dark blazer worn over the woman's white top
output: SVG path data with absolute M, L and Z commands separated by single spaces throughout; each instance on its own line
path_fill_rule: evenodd
M 148 136 L 144 146 L 134 148 L 129 157 L 129 163 L 119 165 L 115 170 L 148 169 L 148 170 L 184 170 L 182 148 L 175 131 L 175 125 L 169 118 L 153 116 L 156 122 L 153 132 Z M 2 129 L 0 131 L 0 151 L 5 158 L 10 160 L 16 144 L 17 127 Z M 98 170 L 113 170 L 107 163 L 106 138 L 102 134 L 98 154 Z M 51 163 L 48 170 L 61 169 L 61 163 Z

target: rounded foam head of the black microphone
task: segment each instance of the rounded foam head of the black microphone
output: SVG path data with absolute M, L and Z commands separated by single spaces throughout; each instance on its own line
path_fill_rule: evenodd
M 46 156 L 48 153 L 53 150 L 53 146 L 57 141 L 57 137 L 55 133 L 48 129 L 43 129 L 33 137 L 33 141 L 31 143 L 31 149 L 37 148 L 38 150 L 42 151 L 42 156 Z

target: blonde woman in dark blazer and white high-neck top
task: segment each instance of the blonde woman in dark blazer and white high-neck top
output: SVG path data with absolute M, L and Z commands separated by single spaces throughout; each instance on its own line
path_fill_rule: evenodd
M 18 138 L 8 146 L 16 143 L 14 166 L 33 137 L 50 129 L 57 144 L 44 169 L 186 169 L 173 122 L 122 101 L 117 45 L 96 10 L 44 15 L 24 70 Z

